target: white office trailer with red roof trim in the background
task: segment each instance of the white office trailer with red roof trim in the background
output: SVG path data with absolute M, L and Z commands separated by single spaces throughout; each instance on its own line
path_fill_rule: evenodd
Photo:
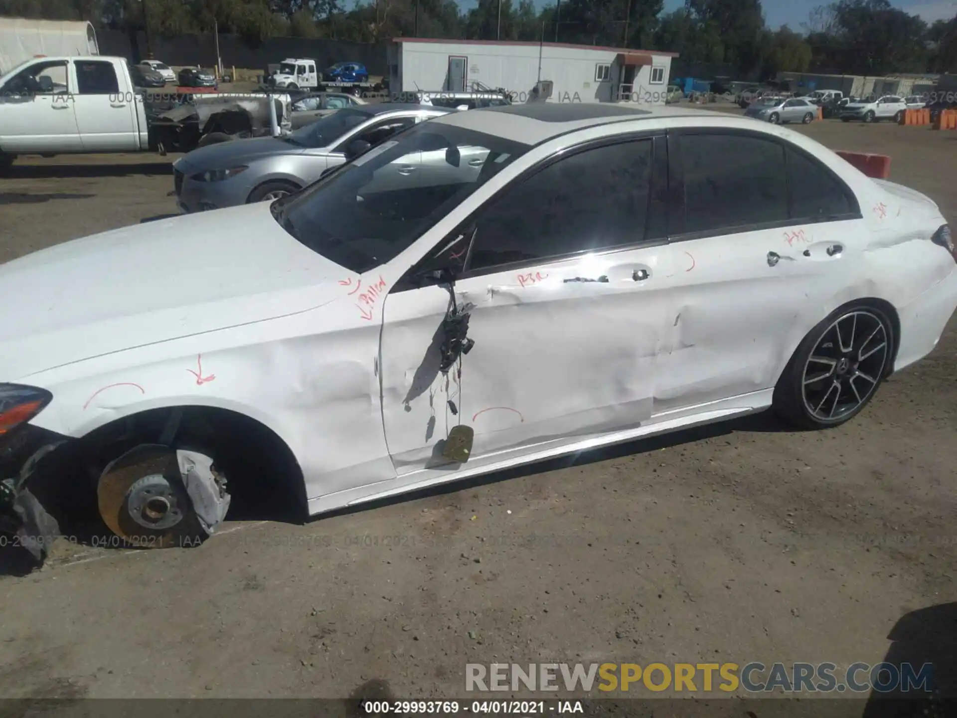
M 389 91 L 469 92 L 502 88 L 512 101 L 664 104 L 676 53 L 561 42 L 397 37 L 389 44 Z M 547 83 L 551 83 L 548 85 Z M 542 83 L 541 85 L 539 83 Z

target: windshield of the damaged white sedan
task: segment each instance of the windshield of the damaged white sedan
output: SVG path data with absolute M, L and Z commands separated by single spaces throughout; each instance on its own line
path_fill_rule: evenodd
M 309 249 L 367 272 L 398 256 L 528 149 L 461 127 L 421 123 L 272 209 L 283 229 Z

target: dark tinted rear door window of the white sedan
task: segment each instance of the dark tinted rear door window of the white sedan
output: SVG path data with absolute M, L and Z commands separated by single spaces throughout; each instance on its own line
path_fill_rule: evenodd
M 684 135 L 685 232 L 788 219 L 784 147 L 741 135 Z

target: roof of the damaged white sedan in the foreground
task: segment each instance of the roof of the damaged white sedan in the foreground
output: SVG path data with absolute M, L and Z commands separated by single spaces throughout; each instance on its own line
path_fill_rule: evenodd
M 528 102 L 451 112 L 430 122 L 456 125 L 526 145 L 538 145 L 573 130 L 602 124 L 714 115 L 715 112 L 709 110 L 658 106 L 638 108 L 612 102 Z

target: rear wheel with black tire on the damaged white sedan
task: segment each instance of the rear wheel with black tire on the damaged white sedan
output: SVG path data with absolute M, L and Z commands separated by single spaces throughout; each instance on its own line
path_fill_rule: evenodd
M 867 406 L 891 367 L 894 327 L 879 309 L 850 303 L 804 338 L 774 388 L 777 415 L 804 429 L 843 424 Z

